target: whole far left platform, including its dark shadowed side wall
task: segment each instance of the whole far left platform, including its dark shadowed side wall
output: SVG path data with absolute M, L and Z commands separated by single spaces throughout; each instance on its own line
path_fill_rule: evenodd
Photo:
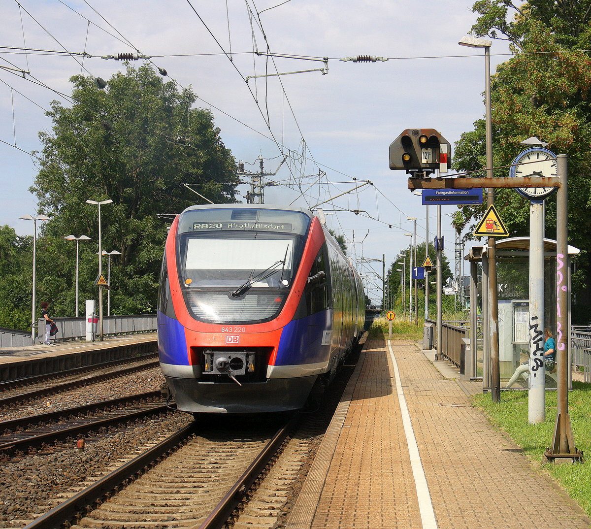
M 0 382 L 119 360 L 157 350 L 157 333 L 105 337 L 102 342 L 72 340 L 0 348 Z

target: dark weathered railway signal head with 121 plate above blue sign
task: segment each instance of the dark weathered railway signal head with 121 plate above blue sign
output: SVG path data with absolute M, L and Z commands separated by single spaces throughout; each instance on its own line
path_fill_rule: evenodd
M 447 173 L 452 147 L 435 129 L 406 129 L 389 148 L 390 168 L 427 176 L 435 170 Z

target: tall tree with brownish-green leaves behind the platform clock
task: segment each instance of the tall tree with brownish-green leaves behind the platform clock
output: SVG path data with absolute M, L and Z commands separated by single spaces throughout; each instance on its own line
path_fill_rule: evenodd
M 492 77 L 495 176 L 524 149 L 519 142 L 538 137 L 556 154 L 569 156 L 569 243 L 582 250 L 573 289 L 582 293 L 591 273 L 591 0 L 480 0 L 472 33 L 508 40 L 514 56 Z M 475 122 L 456 144 L 454 168 L 486 167 L 485 122 Z M 479 176 L 476 173 L 474 176 Z M 514 190 L 495 190 L 495 206 L 511 235 L 528 235 L 529 202 Z M 483 215 L 483 207 L 462 206 L 454 226 L 463 229 Z M 556 199 L 546 200 L 546 236 L 556 238 Z M 588 299 L 589 296 L 579 296 Z

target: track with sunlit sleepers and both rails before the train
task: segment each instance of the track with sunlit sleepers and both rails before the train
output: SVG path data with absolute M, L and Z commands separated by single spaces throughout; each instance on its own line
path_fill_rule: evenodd
M 55 529 L 72 520 L 76 520 L 73 529 L 126 524 L 160 529 L 222 527 L 274 459 L 297 420 L 292 417 L 270 436 L 257 429 L 231 437 L 219 431 L 196 434 L 198 426 L 193 423 L 51 509 L 26 529 Z M 128 482 L 131 484 L 123 488 Z M 85 512 L 88 505 L 105 498 L 100 507 Z

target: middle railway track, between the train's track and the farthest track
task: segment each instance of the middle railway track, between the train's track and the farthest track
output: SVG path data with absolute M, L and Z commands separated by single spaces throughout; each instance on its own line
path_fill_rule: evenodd
M 0 421 L 0 452 L 22 452 L 103 427 L 162 413 L 160 391 L 86 404 L 66 410 Z

